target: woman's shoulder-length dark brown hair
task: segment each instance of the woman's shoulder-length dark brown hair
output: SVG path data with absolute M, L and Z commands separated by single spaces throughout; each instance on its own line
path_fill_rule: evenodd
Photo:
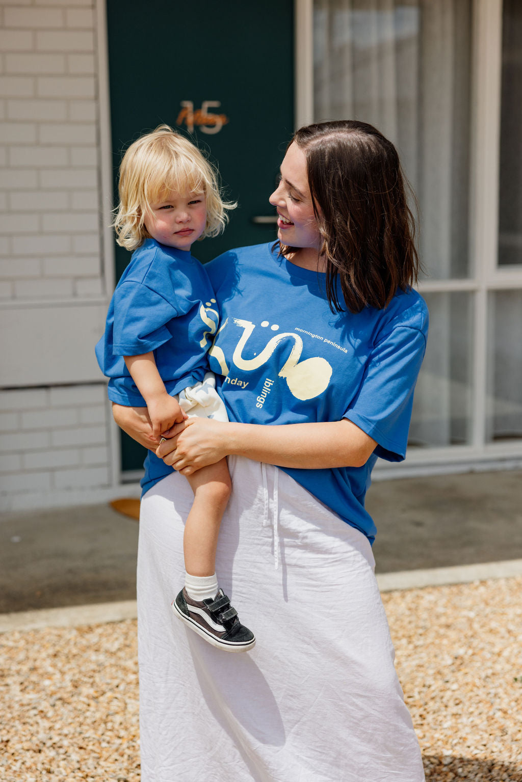
M 293 142 L 307 160 L 330 309 L 344 310 L 337 277 L 351 312 L 387 307 L 419 273 L 415 221 L 405 193 L 409 185 L 397 150 L 373 125 L 356 120 L 301 127 Z M 297 248 L 282 245 L 281 252 Z

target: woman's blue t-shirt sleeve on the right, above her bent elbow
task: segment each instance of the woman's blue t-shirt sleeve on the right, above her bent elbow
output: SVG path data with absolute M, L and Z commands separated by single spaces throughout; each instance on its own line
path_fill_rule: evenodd
M 376 343 L 344 418 L 376 440 L 376 456 L 405 458 L 413 390 L 426 350 L 418 328 L 398 325 Z

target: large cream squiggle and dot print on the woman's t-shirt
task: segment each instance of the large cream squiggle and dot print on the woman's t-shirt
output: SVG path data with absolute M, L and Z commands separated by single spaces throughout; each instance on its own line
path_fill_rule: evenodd
M 243 321 L 238 317 L 233 318 L 234 325 L 243 328 L 243 333 L 239 337 L 239 341 L 236 345 L 236 349 L 232 355 L 232 361 L 236 364 L 238 369 L 243 371 L 251 371 L 258 369 L 263 364 L 266 364 L 268 359 L 274 353 L 275 348 L 283 340 L 290 340 L 292 348 L 290 350 L 290 356 L 286 359 L 283 367 L 279 371 L 279 377 L 285 378 L 286 385 L 290 389 L 290 393 L 296 397 L 296 399 L 308 400 L 313 399 L 314 396 L 319 396 L 320 393 L 326 391 L 329 384 L 329 379 L 332 376 L 332 367 L 326 361 L 325 358 L 320 356 L 314 356 L 311 358 L 305 358 L 303 361 L 299 361 L 301 353 L 303 351 L 303 340 L 298 334 L 294 332 L 283 332 L 272 337 L 268 340 L 266 346 L 261 350 L 254 358 L 243 358 L 243 348 L 246 346 L 250 335 L 254 332 L 256 326 L 251 321 Z M 229 323 L 229 318 L 221 326 L 218 334 L 226 328 Z M 263 321 L 261 327 L 266 328 L 268 321 Z M 276 331 L 279 326 L 272 325 L 272 331 Z M 215 343 L 209 350 L 209 354 L 218 361 L 221 368 L 222 375 L 229 374 L 229 367 L 225 361 L 225 353 Z

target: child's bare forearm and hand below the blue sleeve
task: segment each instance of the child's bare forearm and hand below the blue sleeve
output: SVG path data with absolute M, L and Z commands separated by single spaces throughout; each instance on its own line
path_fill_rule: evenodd
M 154 437 L 159 437 L 175 423 L 185 420 L 187 416 L 178 402 L 167 394 L 152 352 L 143 353 L 142 356 L 124 356 L 124 361 L 139 393 L 146 401 Z

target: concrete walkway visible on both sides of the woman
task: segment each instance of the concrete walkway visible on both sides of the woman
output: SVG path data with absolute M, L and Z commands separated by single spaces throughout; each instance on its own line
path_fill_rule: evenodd
M 509 575 L 522 559 L 521 500 L 521 471 L 376 481 L 367 498 L 376 572 L 495 562 L 502 575 L 505 562 Z M 106 504 L 4 514 L 0 613 L 121 601 L 128 611 L 137 543 L 138 523 Z

